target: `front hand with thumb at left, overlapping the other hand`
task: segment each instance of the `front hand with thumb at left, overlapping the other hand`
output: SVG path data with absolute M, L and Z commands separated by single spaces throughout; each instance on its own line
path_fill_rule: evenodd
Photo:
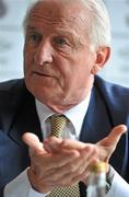
M 38 138 L 31 132 L 26 132 L 23 140 L 30 148 L 31 167 L 28 169 L 28 178 L 34 189 L 39 193 L 48 193 L 55 186 L 73 184 L 71 178 L 72 169 L 69 166 L 72 166 L 80 157 L 79 151 L 48 152 Z

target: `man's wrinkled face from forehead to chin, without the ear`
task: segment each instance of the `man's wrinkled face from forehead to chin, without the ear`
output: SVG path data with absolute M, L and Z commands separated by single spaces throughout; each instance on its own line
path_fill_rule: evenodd
M 93 82 L 91 69 L 96 55 L 90 49 L 81 9 L 44 1 L 33 9 L 27 23 L 26 86 L 58 113 L 80 103 Z

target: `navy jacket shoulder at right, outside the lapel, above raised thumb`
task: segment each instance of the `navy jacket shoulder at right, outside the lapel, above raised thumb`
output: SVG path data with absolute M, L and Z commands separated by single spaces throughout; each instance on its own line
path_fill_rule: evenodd
M 118 121 L 129 125 L 129 88 L 109 83 L 99 77 L 95 77 L 95 88 L 102 95 L 108 113 Z

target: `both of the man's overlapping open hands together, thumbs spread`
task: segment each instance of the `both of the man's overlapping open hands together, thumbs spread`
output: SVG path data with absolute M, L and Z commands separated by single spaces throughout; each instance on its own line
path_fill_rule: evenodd
M 96 144 L 74 140 L 61 140 L 50 137 L 44 141 L 26 132 L 23 140 L 30 147 L 32 166 L 28 177 L 33 187 L 40 192 L 50 192 L 55 186 L 71 186 L 82 181 L 86 185 L 89 169 L 96 161 L 107 164 L 127 127 L 120 125 Z

